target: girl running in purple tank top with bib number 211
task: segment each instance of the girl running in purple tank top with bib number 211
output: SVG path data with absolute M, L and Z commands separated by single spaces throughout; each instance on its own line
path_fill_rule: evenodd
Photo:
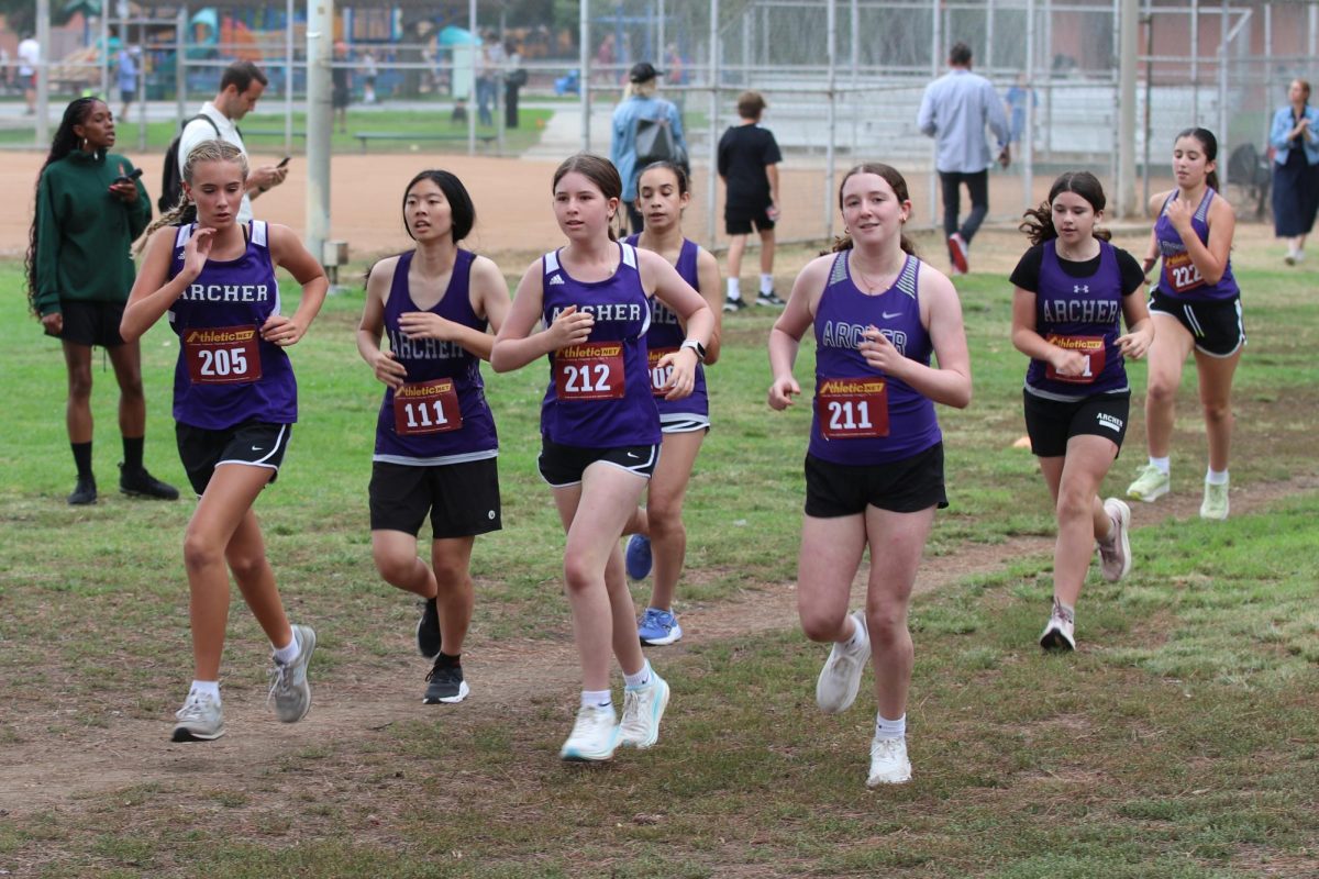
M 849 708 L 867 659 L 874 664 L 878 714 L 867 784 L 876 787 L 911 778 L 907 604 L 934 510 L 947 506 L 933 405 L 971 403 L 971 357 L 956 290 L 911 254 L 902 235 L 911 213 L 902 175 L 888 165 L 859 165 L 843 178 L 839 206 L 848 237 L 797 275 L 769 335 L 769 405 L 783 410 L 802 393 L 793 361 L 814 327 L 815 420 L 797 606 L 806 637 L 834 646 L 815 684 L 820 710 Z M 929 365 L 931 352 L 938 366 Z M 865 611 L 848 614 L 867 547 Z

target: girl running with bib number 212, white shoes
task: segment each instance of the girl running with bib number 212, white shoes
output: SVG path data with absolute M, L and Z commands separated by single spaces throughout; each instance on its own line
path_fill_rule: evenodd
M 567 158 L 554 173 L 553 192 L 567 246 L 522 275 L 491 365 L 508 372 L 549 357 L 539 470 L 567 531 L 563 580 L 583 677 L 580 709 L 559 756 L 608 760 L 620 743 L 654 745 L 669 701 L 669 684 L 641 654 L 619 548 L 660 457 L 645 340 L 650 298 L 687 326 L 678 351 L 656 364 L 670 370 L 669 399 L 691 394 L 715 318 L 667 260 L 615 240 L 623 182 L 608 159 Z M 537 323 L 543 328 L 533 332 Z M 624 672 L 621 725 L 609 696 L 611 646 Z

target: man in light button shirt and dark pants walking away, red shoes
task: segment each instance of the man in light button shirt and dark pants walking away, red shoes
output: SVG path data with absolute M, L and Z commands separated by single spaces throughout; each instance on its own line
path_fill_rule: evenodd
M 985 125 L 998 138 L 998 163 L 1008 167 L 1010 129 L 993 83 L 971 72 L 971 47 L 959 42 L 948 51 L 948 72 L 925 90 L 917 125 L 935 138 L 935 169 L 943 188 L 943 233 L 954 274 L 967 273 L 967 250 L 989 212 L 989 144 Z M 971 195 L 971 213 L 958 227 L 962 184 Z

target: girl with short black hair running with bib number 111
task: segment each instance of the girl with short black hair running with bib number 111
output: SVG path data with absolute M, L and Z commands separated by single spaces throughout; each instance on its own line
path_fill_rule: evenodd
M 472 621 L 472 547 L 501 527 L 499 440 L 480 380 L 508 314 L 499 266 L 460 250 L 476 223 L 462 181 L 422 171 L 404 190 L 410 253 L 371 268 L 357 352 L 384 382 L 371 470 L 371 553 L 380 576 L 423 601 L 417 648 L 433 659 L 427 705 L 460 702 Z M 389 349 L 380 340 L 389 333 Z M 427 513 L 430 564 L 417 557 Z

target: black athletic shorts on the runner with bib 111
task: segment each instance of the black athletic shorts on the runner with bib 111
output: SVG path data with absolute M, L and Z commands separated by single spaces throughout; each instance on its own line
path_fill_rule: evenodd
M 417 536 L 430 514 L 431 538 L 470 538 L 499 531 L 499 459 L 413 467 L 371 465 L 371 530 Z

